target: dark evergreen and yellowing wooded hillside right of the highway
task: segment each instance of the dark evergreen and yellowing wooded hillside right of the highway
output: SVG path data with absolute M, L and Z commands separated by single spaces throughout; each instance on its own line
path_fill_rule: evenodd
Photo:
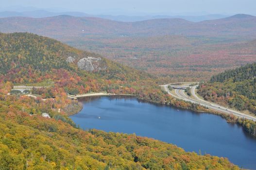
M 198 92 L 206 100 L 256 115 L 256 63 L 215 75 Z

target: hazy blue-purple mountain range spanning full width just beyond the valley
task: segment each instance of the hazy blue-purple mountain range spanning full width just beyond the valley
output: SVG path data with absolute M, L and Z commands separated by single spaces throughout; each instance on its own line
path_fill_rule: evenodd
M 137 22 L 119 22 L 97 17 L 67 15 L 45 18 L 0 18 L 0 32 L 31 32 L 58 37 L 102 36 L 255 36 L 256 17 L 236 15 L 221 19 L 190 22 L 181 18 L 151 19 Z

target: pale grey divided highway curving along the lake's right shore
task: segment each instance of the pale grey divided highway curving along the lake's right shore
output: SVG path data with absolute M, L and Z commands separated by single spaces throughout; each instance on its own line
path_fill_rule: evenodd
M 192 102 L 192 103 L 197 103 L 197 104 L 200 104 L 202 106 L 205 106 L 205 107 L 208 107 L 209 109 L 212 109 L 212 110 L 215 110 L 215 111 L 218 111 L 218 112 L 222 112 L 222 113 L 225 113 L 225 114 L 233 114 L 239 118 L 246 118 L 246 119 L 251 119 L 251 120 L 254 120 L 256 121 L 256 117 L 253 117 L 253 116 L 250 116 L 250 115 L 246 115 L 246 114 L 243 114 L 241 112 L 238 112 L 236 110 L 232 110 L 232 109 L 229 109 L 229 108 L 226 108 L 226 107 L 223 107 L 221 105 L 218 105 L 218 104 L 215 104 L 215 103 L 212 103 L 212 102 L 208 102 L 208 101 L 205 101 L 203 99 L 200 99 L 196 94 L 195 94 L 195 89 L 196 89 L 196 86 L 192 86 L 191 87 L 191 94 L 193 96 L 193 98 L 191 98 L 190 96 L 188 96 L 186 93 L 185 93 L 185 90 L 183 89 L 175 89 L 174 90 L 174 93 L 172 93 L 169 89 L 168 89 L 168 85 L 162 85 L 164 87 L 164 90 L 170 94 L 171 96 L 177 98 L 177 99 L 181 99 L 181 100 L 184 100 L 184 101 L 187 101 L 187 102 Z

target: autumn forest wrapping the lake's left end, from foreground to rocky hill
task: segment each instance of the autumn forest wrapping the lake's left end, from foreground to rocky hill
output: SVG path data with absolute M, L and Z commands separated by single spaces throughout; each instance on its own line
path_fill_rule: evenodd
M 79 103 L 67 94 L 107 91 L 153 102 L 173 101 L 150 75 L 28 33 L 0 34 L 0 167 L 40 170 L 239 170 L 225 158 L 186 153 L 157 140 L 77 128 L 68 114 Z M 72 57 L 72 58 L 70 58 Z M 80 68 L 80 60 L 101 58 Z M 85 63 L 86 63 L 85 62 Z M 8 95 L 14 84 L 47 85 L 32 95 Z M 48 113 L 51 119 L 41 117 Z M 146 154 L 145 154 L 146 153 Z

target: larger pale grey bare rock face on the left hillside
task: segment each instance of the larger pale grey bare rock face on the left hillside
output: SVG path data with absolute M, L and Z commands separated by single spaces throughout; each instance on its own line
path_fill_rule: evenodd
M 80 69 L 86 70 L 86 71 L 95 71 L 95 70 L 101 70 L 101 58 L 94 58 L 94 57 L 86 57 L 82 58 L 77 62 L 77 66 Z

